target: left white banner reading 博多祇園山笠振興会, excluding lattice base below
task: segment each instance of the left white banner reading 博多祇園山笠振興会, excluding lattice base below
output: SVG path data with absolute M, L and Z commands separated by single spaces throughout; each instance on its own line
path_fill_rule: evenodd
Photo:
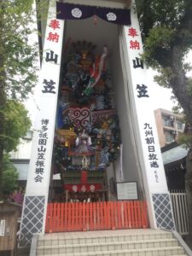
M 55 6 L 49 9 L 42 69 L 39 78 L 39 110 L 32 141 L 32 155 L 26 195 L 47 195 L 55 134 L 55 114 L 61 68 L 64 21 L 55 19 Z M 34 190 L 34 187 L 37 189 Z

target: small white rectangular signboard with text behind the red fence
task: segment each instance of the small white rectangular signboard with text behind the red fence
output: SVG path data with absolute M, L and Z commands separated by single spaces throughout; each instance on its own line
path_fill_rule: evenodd
M 118 200 L 137 200 L 137 182 L 117 183 Z

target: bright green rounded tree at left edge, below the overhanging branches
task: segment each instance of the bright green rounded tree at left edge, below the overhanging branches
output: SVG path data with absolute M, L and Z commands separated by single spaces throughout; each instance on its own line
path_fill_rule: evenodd
M 26 135 L 26 131 L 31 126 L 31 120 L 27 116 L 27 110 L 21 102 L 7 100 L 2 108 L 4 117 L 4 133 L 0 135 L 0 143 L 3 144 L 4 152 L 15 150 L 20 143 L 20 137 Z M 12 176 L 12 178 L 11 178 Z M 0 188 L 2 194 L 8 194 L 11 189 L 15 189 L 14 166 L 9 162 L 9 155 L 3 154 L 2 160 L 2 177 L 0 178 Z

